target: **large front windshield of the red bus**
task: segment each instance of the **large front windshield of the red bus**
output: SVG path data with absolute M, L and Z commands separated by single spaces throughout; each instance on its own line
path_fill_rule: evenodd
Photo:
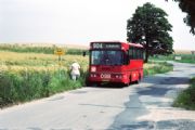
M 93 50 L 91 51 L 92 65 L 122 65 L 123 53 L 122 51 L 110 50 Z

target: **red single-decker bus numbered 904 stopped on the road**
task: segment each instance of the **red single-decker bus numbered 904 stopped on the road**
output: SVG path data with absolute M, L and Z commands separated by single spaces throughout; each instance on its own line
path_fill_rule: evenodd
M 143 47 L 135 43 L 91 42 L 88 83 L 139 82 L 143 78 Z

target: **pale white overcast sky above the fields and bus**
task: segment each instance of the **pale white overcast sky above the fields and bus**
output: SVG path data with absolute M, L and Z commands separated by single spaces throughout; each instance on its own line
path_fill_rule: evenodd
M 195 50 L 185 14 L 171 0 L 0 0 L 0 43 L 127 41 L 127 20 L 145 2 L 168 13 L 173 49 Z

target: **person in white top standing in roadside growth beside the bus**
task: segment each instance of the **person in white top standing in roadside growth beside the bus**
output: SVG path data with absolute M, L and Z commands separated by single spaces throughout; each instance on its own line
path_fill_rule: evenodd
M 70 75 L 73 80 L 77 80 L 80 77 L 80 65 L 76 61 L 70 66 Z

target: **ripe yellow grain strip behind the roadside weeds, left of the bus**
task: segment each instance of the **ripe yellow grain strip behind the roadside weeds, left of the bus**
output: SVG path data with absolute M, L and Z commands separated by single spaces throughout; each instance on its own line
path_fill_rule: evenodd
M 76 60 L 83 69 L 88 67 L 88 56 L 63 55 L 61 56 L 61 67 L 68 69 Z M 17 53 L 0 51 L 0 69 L 55 69 L 58 67 L 58 56 L 42 53 Z

